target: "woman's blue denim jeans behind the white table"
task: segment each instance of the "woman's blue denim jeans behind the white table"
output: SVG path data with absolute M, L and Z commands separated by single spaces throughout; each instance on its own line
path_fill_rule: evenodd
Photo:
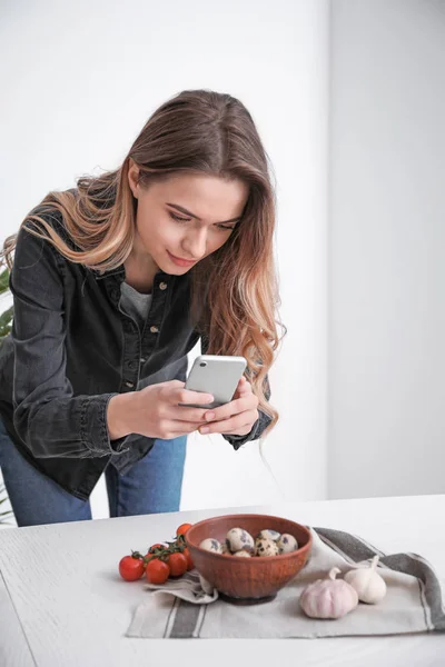
M 156 440 L 129 472 L 105 471 L 111 517 L 178 511 L 187 437 Z M 91 519 L 89 500 L 80 500 L 36 470 L 18 451 L 0 418 L 0 468 L 18 526 Z

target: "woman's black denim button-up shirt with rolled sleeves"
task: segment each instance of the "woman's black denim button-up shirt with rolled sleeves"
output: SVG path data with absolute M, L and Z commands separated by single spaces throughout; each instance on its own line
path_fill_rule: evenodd
M 55 217 L 46 219 L 53 223 Z M 10 277 L 13 327 L 0 350 L 0 414 L 27 460 L 81 499 L 107 465 L 126 472 L 155 442 L 137 434 L 110 441 L 110 398 L 184 381 L 187 354 L 199 340 L 189 317 L 188 275 L 156 275 L 142 336 L 119 308 L 123 280 L 123 266 L 100 273 L 26 229 L 19 232 Z M 225 438 L 238 449 L 269 421 L 260 412 L 250 434 Z

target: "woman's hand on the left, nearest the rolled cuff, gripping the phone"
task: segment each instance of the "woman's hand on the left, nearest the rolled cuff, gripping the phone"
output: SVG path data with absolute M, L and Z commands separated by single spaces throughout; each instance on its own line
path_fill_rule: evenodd
M 179 404 L 211 404 L 210 394 L 190 391 L 185 384 L 170 380 L 112 396 L 107 408 L 107 426 L 110 440 L 129 434 L 148 438 L 170 440 L 198 430 L 207 424 L 204 415 L 208 408 L 187 408 Z

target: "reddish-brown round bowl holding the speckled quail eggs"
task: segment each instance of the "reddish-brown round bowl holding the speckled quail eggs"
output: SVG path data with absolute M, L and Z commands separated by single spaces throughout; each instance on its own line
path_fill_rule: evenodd
M 230 528 L 244 528 L 255 539 L 260 530 L 271 528 L 293 535 L 298 549 L 279 556 L 239 558 L 199 548 L 207 537 L 226 539 Z M 308 528 L 269 515 L 237 514 L 199 521 L 186 532 L 186 542 L 196 569 L 222 597 L 238 604 L 257 604 L 273 599 L 293 579 L 308 559 L 312 536 Z

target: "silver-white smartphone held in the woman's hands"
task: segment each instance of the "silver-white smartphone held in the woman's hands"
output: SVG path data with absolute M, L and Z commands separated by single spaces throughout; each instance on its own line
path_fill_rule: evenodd
M 186 380 L 186 389 L 211 394 L 215 400 L 205 406 L 188 405 L 187 407 L 218 408 L 230 402 L 246 366 L 247 361 L 244 357 L 214 355 L 197 357 Z

